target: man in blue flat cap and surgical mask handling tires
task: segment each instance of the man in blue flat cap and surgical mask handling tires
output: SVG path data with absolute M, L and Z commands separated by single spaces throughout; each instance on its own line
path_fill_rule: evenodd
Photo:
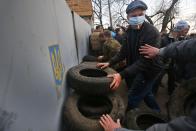
M 140 55 L 138 51 L 139 47 L 146 43 L 158 47 L 160 42 L 158 30 L 145 22 L 146 9 L 147 5 L 140 0 L 135 0 L 128 5 L 126 13 L 129 28 L 123 39 L 122 48 L 109 62 L 98 63 L 97 67 L 103 69 L 125 59 L 127 67 L 119 73 L 108 76 L 113 78 L 110 88 L 117 89 L 124 78 L 129 88 L 128 110 L 137 108 L 139 103 L 144 100 L 150 108 L 160 112 L 152 94 L 152 85 L 160 73 L 162 64 L 159 57 L 149 60 Z

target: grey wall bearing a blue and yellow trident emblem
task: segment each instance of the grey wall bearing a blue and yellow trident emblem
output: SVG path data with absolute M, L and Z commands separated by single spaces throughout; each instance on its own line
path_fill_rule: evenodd
M 90 26 L 64 0 L 0 0 L 0 19 L 0 131 L 59 131 Z

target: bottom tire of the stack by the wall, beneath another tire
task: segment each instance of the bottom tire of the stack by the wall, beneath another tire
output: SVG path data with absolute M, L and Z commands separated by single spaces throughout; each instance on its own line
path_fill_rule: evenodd
M 99 124 L 99 118 L 91 119 L 84 116 L 78 109 L 78 94 L 73 93 L 65 103 L 64 121 L 68 125 L 69 131 L 103 131 Z M 114 120 L 122 119 L 125 107 L 121 97 L 112 93 L 106 96 L 112 103 L 112 110 L 108 113 Z

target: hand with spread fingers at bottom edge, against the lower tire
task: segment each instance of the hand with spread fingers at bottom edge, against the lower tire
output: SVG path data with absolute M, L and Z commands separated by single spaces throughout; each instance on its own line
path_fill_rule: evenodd
M 117 120 L 117 123 L 112 120 L 109 115 L 103 115 L 99 121 L 101 126 L 105 131 L 114 131 L 116 128 L 121 128 L 120 120 Z

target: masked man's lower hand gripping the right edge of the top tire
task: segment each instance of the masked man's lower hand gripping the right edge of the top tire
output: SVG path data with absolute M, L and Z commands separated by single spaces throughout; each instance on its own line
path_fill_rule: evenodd
M 113 81 L 110 84 L 110 88 L 112 90 L 116 90 L 119 87 L 121 80 L 122 80 L 120 74 L 116 73 L 116 74 L 108 75 L 107 77 L 113 78 Z

